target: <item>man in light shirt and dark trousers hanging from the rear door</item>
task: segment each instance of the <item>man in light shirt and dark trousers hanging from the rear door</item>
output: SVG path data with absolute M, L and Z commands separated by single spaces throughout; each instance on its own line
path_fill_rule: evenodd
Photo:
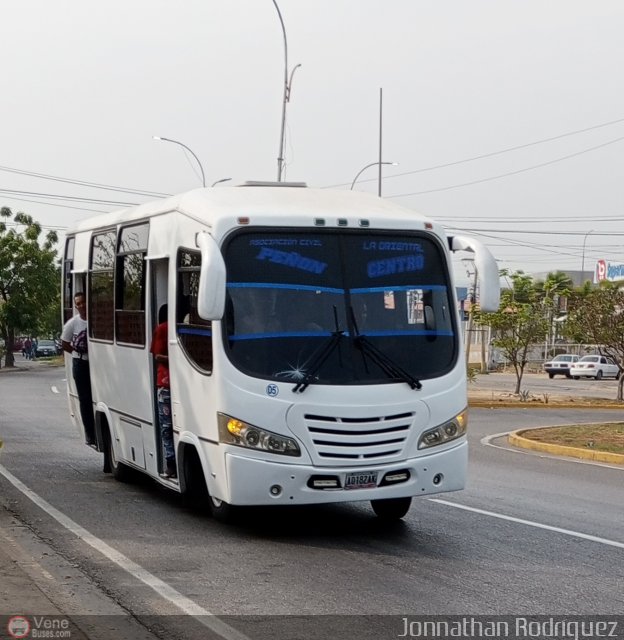
M 74 296 L 74 305 L 78 313 L 65 323 L 61 333 L 61 343 L 63 351 L 71 353 L 72 356 L 72 375 L 78 392 L 85 441 L 88 445 L 95 445 L 95 419 L 87 343 L 87 300 L 82 291 Z

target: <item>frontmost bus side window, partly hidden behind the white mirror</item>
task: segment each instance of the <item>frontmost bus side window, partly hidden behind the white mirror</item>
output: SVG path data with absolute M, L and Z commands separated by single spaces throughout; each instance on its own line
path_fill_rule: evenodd
M 178 252 L 176 333 L 189 360 L 212 373 L 212 323 L 202 320 L 197 313 L 200 267 L 199 251 Z

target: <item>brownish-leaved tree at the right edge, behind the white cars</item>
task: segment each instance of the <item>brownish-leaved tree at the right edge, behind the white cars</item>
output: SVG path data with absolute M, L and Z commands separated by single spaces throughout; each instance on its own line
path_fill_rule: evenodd
M 601 355 L 624 362 L 624 289 L 605 281 L 596 289 L 574 292 L 568 301 L 566 335 L 598 345 Z M 620 376 L 617 399 L 623 400 L 624 377 Z

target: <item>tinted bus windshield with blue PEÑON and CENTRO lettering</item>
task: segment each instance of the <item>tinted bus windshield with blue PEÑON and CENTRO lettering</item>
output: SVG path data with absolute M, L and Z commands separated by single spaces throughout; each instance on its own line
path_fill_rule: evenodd
M 223 340 L 248 375 L 418 388 L 455 364 L 448 265 L 424 233 L 245 230 L 224 257 Z

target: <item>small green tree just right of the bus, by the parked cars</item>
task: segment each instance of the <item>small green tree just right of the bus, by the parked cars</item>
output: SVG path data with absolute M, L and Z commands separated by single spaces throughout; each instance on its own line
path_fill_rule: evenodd
M 530 347 L 545 339 L 548 330 L 546 298 L 541 295 L 531 276 L 518 271 L 509 274 L 510 286 L 501 292 L 501 304 L 495 313 L 477 312 L 477 324 L 490 326 L 494 332 L 492 344 L 509 360 L 516 374 L 515 393 L 520 393 L 522 377 L 527 365 Z

